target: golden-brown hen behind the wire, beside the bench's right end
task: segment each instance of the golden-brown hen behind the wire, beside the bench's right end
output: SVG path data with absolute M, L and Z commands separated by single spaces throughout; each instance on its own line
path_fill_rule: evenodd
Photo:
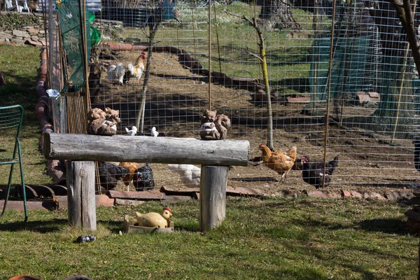
M 261 158 L 264 165 L 280 174 L 281 181 L 283 181 L 295 165 L 297 148 L 293 146 L 288 151 L 272 152 L 267 146 L 260 144 L 259 149 L 262 152 Z

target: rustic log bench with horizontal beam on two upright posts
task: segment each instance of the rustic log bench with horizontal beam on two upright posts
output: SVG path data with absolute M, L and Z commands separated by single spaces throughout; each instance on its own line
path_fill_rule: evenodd
M 94 161 L 201 165 L 200 230 L 204 232 L 225 220 L 229 167 L 248 165 L 249 142 L 50 132 L 44 134 L 43 152 L 48 160 L 67 160 L 69 223 L 85 230 L 96 230 Z

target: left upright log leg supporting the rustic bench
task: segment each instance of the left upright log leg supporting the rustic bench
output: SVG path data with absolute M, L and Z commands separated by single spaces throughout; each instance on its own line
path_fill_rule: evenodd
M 94 162 L 67 161 L 67 202 L 69 224 L 83 230 L 96 230 Z

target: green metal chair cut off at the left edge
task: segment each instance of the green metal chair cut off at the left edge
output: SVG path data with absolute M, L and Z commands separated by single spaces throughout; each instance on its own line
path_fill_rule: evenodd
M 3 149 L 2 148 L 3 145 L 0 144 L 0 165 L 11 165 L 9 178 L 8 178 L 8 188 L 7 188 L 7 193 L 6 193 L 6 199 L 4 200 L 3 211 L 1 212 L 0 216 L 3 216 L 4 211 L 6 210 L 6 205 L 8 202 L 8 197 L 10 195 L 10 187 L 12 183 L 13 167 L 15 166 L 15 164 L 18 163 L 20 167 L 20 179 L 22 181 L 23 207 L 25 209 L 25 222 L 26 222 L 28 219 L 27 199 L 26 199 L 26 191 L 25 191 L 25 179 L 24 179 L 23 168 L 22 168 L 22 153 L 20 151 L 20 140 L 19 140 L 20 130 L 22 128 L 22 119 L 23 119 L 22 106 L 13 105 L 13 106 L 0 107 L 0 136 L 4 136 L 4 137 L 10 136 L 10 138 L 13 138 L 15 142 L 13 152 L 11 151 L 11 149 L 7 149 L 7 148 Z M 7 132 L 6 130 L 9 130 L 9 132 Z

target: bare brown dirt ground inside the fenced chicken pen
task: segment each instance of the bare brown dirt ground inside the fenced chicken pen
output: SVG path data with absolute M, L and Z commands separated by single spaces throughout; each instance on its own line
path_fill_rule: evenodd
M 120 52 L 121 61 L 133 62 L 138 52 Z M 104 63 L 115 63 L 102 61 Z M 155 126 L 167 137 L 199 138 L 200 115 L 207 108 L 208 83 L 202 76 L 191 73 L 179 64 L 178 56 L 163 52 L 153 53 L 151 79 L 146 94 L 145 132 Z M 111 85 L 102 73 L 99 94 L 92 102 L 92 108 L 120 110 L 120 130 L 135 125 L 137 109 L 141 102 L 140 86 L 135 78 L 122 86 Z M 211 107 L 225 113 L 232 120 L 229 139 L 248 140 L 251 144 L 250 158 L 260 155 L 258 145 L 267 141 L 264 106 L 251 102 L 251 92 L 223 85 L 211 86 Z M 297 146 L 298 156 L 309 155 L 316 160 L 323 159 L 325 124 L 320 118 L 302 115 L 305 104 L 273 104 L 274 146 L 276 149 Z M 384 134 L 366 130 L 367 120 L 355 118 L 369 116 L 372 109 L 348 107 L 344 127 L 329 125 L 328 160 L 339 156 L 339 167 L 332 176 L 330 190 L 372 190 L 383 193 L 386 190 L 409 191 L 413 183 L 419 182 L 414 169 L 411 141 L 394 141 Z M 349 123 L 350 122 L 350 123 Z M 365 122 L 365 123 L 363 123 Z M 170 153 L 171 151 L 167 151 Z M 151 164 L 156 188 L 168 186 L 185 188 L 179 176 L 169 172 L 166 165 Z M 268 179 L 267 179 L 268 177 Z M 247 186 L 274 195 L 281 190 L 300 192 L 314 190 L 302 181 L 302 172 L 290 171 L 284 182 L 279 175 L 264 165 L 232 167 L 228 186 Z M 124 186 L 119 188 L 127 189 Z

